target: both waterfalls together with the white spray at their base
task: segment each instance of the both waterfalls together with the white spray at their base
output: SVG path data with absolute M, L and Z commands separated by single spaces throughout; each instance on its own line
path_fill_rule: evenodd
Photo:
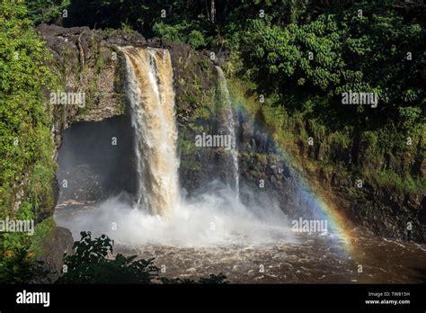
M 120 197 L 97 203 L 91 210 L 58 218 L 75 236 L 83 230 L 106 234 L 118 243 L 135 246 L 260 245 L 280 238 L 291 240 L 285 214 L 274 199 L 244 205 L 238 199 L 238 151 L 235 119 L 226 78 L 218 72 L 218 96 L 225 113 L 222 123 L 231 135 L 234 186 L 206 183 L 181 200 L 176 153 L 173 69 L 164 49 L 120 48 L 125 56 L 127 92 L 135 129 L 138 160 L 138 208 Z M 69 210 L 68 210 L 69 211 Z M 114 221 L 118 228 L 105 228 Z

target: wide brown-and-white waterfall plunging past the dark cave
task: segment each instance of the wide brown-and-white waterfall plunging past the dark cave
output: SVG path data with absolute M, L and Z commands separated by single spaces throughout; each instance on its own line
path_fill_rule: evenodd
M 180 201 L 173 67 L 166 49 L 120 48 L 138 160 L 138 207 L 169 215 Z

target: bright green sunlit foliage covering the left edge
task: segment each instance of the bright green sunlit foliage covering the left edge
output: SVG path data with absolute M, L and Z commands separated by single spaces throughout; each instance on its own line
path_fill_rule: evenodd
M 54 206 L 51 115 L 43 103 L 53 84 L 49 53 L 22 1 L 0 3 L 0 219 L 35 219 Z M 0 234 L 0 282 L 30 282 L 40 274 L 31 243 L 42 234 Z

